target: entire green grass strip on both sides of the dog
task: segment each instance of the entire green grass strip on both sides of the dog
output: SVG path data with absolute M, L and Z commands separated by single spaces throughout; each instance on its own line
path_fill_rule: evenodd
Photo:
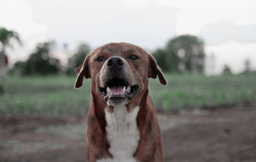
M 0 97 L 0 114 L 84 115 L 90 106 L 90 80 L 74 89 L 76 77 L 9 77 L 9 98 Z M 168 85 L 150 79 L 150 93 L 157 110 L 172 112 L 255 101 L 256 76 L 166 75 Z

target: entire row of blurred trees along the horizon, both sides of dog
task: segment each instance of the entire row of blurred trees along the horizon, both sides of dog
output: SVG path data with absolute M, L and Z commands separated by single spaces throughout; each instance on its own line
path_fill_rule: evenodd
M 13 41 L 20 45 L 20 36 L 17 32 L 0 27 L 0 93 L 6 91 L 6 73 L 8 71 L 8 54 L 6 48 L 12 47 Z M 38 43 L 35 50 L 26 61 L 14 64 L 10 73 L 19 75 L 49 75 L 67 74 L 74 75 L 74 69 L 83 64 L 84 58 L 90 53 L 90 46 L 82 43 L 74 55 L 68 59 L 66 66 L 54 58 L 52 50 L 54 41 Z M 204 73 L 205 51 L 204 41 L 196 36 L 181 35 L 167 41 L 163 48 L 157 48 L 152 55 L 163 71 L 169 73 Z M 250 60 L 245 63 L 246 71 L 250 73 Z M 223 73 L 232 74 L 230 68 L 225 66 Z

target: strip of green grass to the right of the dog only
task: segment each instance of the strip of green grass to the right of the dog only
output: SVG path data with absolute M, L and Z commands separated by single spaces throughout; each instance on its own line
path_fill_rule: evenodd
M 256 76 L 166 75 L 166 78 L 168 87 L 150 82 L 155 105 L 164 112 L 256 99 Z

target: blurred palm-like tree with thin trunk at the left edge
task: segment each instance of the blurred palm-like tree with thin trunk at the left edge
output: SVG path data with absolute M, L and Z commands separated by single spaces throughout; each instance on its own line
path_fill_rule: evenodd
M 12 47 L 12 40 L 18 41 L 21 45 L 21 41 L 19 38 L 19 34 L 15 31 L 9 31 L 4 27 L 0 28 L 0 43 L 1 43 L 1 50 L 0 50 L 0 78 L 1 78 L 1 85 L 0 85 L 0 92 L 2 92 L 3 96 L 7 96 L 7 84 L 6 84 L 6 73 L 8 69 L 8 57 L 6 55 L 6 48 Z

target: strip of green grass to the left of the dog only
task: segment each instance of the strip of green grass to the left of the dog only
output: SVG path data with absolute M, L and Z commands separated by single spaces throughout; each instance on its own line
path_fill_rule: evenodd
M 9 98 L 0 98 L 1 114 L 85 114 L 90 105 L 90 80 L 74 89 L 76 77 L 9 77 Z

